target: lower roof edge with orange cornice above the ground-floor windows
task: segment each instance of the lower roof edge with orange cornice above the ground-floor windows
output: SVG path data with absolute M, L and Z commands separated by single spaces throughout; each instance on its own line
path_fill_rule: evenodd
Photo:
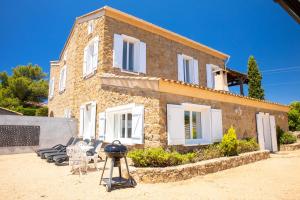
M 222 101 L 275 111 L 288 112 L 289 110 L 287 105 L 165 78 L 118 76 L 114 74 L 103 73 L 101 75 L 101 83 L 112 86 L 150 89 L 158 92 L 172 93 L 199 99 Z

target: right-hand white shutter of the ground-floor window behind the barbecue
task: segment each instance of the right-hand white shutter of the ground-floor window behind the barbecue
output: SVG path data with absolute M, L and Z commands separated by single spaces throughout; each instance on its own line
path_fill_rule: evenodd
M 144 143 L 144 106 L 132 108 L 132 141 L 134 144 Z

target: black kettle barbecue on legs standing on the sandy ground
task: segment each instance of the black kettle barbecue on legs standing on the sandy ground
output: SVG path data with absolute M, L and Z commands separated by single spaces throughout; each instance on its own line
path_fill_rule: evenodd
M 129 174 L 126 154 L 127 154 L 127 147 L 122 145 L 119 140 L 114 140 L 111 144 L 108 144 L 104 148 L 104 152 L 106 154 L 105 163 L 101 174 L 100 185 L 102 181 L 106 187 L 106 191 L 110 192 L 113 188 L 121 188 L 121 187 L 133 187 L 135 186 L 135 181 Z M 108 178 L 103 178 L 103 174 L 105 171 L 107 159 L 111 159 L 111 167 L 110 173 Z M 128 179 L 123 178 L 121 174 L 121 158 L 124 158 L 126 164 L 126 170 L 128 173 Z M 112 177 L 114 167 L 119 168 L 119 177 Z

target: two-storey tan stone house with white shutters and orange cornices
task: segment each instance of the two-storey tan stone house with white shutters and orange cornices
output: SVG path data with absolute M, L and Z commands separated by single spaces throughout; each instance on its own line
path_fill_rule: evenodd
M 105 6 L 76 18 L 50 62 L 49 116 L 78 119 L 80 137 L 142 147 L 210 144 L 231 125 L 239 138 L 287 129 L 287 106 L 229 92 L 228 58 Z

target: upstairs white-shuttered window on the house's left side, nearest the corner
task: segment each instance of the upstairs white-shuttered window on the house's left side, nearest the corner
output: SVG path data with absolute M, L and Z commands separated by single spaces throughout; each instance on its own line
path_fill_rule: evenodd
M 89 48 L 91 48 L 91 46 L 93 47 L 93 49 L 95 49 L 95 47 L 94 47 L 94 45 L 95 45 L 95 43 L 97 44 L 98 43 L 98 52 L 96 53 L 96 55 L 97 55 L 97 61 L 96 61 L 96 67 L 94 68 L 93 66 L 94 66 L 94 55 L 95 55 L 95 52 L 94 52 L 94 50 L 93 50 L 93 55 L 89 55 L 88 53 L 89 53 Z M 97 36 L 97 37 L 95 37 L 95 38 L 93 38 L 91 41 L 89 41 L 88 42 L 88 44 L 86 45 L 86 47 L 84 48 L 84 52 L 86 52 L 86 53 L 84 53 L 84 58 L 83 58 L 83 67 L 85 67 L 85 74 L 84 74 L 84 72 L 83 72 L 83 78 L 84 79 L 87 79 L 87 78 L 89 78 L 89 77 L 91 77 L 91 76 L 93 76 L 95 73 L 96 73 L 96 70 L 97 70 L 97 65 L 98 65 L 98 61 L 99 61 L 99 44 L 100 44 L 100 41 L 99 41 L 99 36 Z M 89 66 L 88 67 L 88 58 L 89 57 L 91 57 L 90 58 L 90 60 L 91 60 L 91 62 L 90 62 L 90 65 L 91 66 Z M 88 69 L 90 69 L 89 71 L 88 71 Z

